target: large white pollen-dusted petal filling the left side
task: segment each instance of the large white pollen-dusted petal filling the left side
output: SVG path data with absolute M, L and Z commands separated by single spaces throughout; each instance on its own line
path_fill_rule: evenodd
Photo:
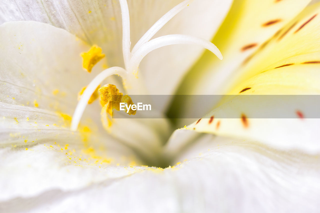
M 90 106 L 98 113 L 84 116 L 81 131 L 69 130 L 68 114 L 90 79 L 80 56 L 90 46 L 66 30 L 34 21 L 5 23 L 0 30 L 0 144 L 6 146 L 0 151 L 1 202 L 80 189 L 133 172 L 115 167 L 140 161 L 96 125 L 100 106 Z

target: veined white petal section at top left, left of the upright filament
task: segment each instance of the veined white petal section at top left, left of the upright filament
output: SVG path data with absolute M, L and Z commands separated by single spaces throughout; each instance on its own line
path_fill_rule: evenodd
M 10 1 L 0 5 L 0 20 L 34 20 L 63 28 L 102 47 L 110 66 L 121 66 L 121 12 L 115 1 Z

